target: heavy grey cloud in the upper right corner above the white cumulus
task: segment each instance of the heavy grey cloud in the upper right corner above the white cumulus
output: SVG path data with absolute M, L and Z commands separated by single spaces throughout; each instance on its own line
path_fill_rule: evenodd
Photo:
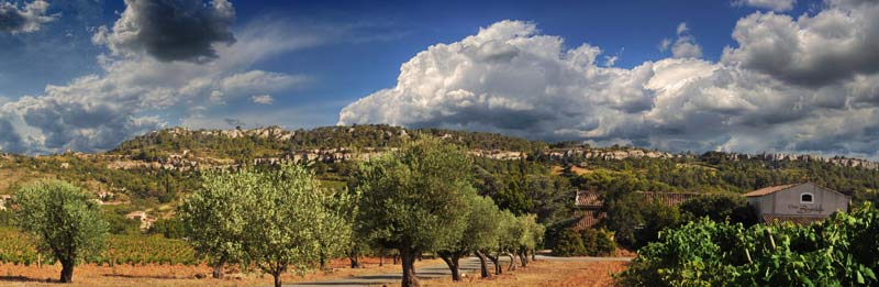
M 879 71 L 879 4 L 827 1 L 814 15 L 755 13 L 738 21 L 727 63 L 789 84 L 822 87 Z

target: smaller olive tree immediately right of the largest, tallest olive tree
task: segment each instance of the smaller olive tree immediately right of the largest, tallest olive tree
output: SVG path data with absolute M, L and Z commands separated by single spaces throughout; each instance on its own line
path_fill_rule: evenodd
M 488 197 L 474 196 L 470 198 L 467 207 L 467 217 L 464 221 L 464 230 L 460 235 L 441 249 L 437 254 L 448 265 L 452 272 L 453 280 L 460 280 L 460 265 L 458 262 L 461 257 L 475 253 L 479 257 L 482 277 L 489 277 L 486 250 L 497 247 L 498 231 L 500 225 L 500 210 L 494 201 Z

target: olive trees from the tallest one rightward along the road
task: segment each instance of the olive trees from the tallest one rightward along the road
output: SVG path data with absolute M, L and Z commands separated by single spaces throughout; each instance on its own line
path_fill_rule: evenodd
M 482 276 L 490 258 L 508 254 L 511 268 L 543 239 L 536 217 L 500 211 L 477 195 L 472 159 L 460 147 L 422 139 L 387 156 L 364 163 L 352 183 L 358 197 L 355 234 L 383 249 L 397 249 L 402 260 L 402 286 L 416 286 L 418 255 L 436 252 L 460 279 L 459 260 L 476 254 Z M 494 255 L 491 255 L 494 252 Z

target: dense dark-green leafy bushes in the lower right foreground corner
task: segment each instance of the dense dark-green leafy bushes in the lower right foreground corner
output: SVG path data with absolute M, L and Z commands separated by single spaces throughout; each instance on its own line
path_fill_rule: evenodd
M 877 285 L 879 212 L 865 203 L 811 225 L 744 228 L 706 218 L 638 251 L 624 286 Z

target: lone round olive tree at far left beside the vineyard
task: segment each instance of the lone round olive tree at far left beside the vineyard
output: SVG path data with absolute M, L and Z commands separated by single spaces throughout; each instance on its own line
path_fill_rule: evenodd
M 82 189 L 43 180 L 19 188 L 15 202 L 16 224 L 62 263 L 62 283 L 73 282 L 74 267 L 103 247 L 108 224 L 97 201 Z

